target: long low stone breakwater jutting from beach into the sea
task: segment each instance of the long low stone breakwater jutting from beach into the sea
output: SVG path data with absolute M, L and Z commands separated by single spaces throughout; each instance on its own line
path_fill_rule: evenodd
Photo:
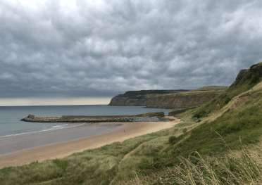
M 168 120 L 161 120 L 157 116 L 144 117 L 118 117 L 113 119 L 91 119 L 91 120 L 60 120 L 60 119 L 35 119 L 32 117 L 25 117 L 21 121 L 24 122 L 166 122 Z

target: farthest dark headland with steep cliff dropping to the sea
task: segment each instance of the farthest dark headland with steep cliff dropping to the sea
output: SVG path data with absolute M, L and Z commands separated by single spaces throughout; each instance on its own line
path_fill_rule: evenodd
M 149 94 L 170 94 L 187 90 L 142 90 L 127 91 L 125 94 L 119 94 L 111 99 L 108 106 L 146 106 Z

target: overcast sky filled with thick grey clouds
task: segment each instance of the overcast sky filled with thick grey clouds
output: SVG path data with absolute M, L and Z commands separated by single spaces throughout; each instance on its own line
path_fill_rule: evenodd
M 230 86 L 262 62 L 261 10 L 261 0 L 1 0 L 0 106 Z

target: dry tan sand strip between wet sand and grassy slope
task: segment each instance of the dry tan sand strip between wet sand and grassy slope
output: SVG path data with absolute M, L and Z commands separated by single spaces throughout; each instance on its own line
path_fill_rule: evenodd
M 174 117 L 166 117 L 174 119 Z M 50 143 L 44 146 L 40 146 L 41 144 L 39 143 L 39 146 L 35 148 L 24 149 L 23 151 L 10 153 L 7 155 L 0 155 L 0 168 L 26 165 L 34 161 L 41 162 L 47 159 L 63 158 L 76 152 L 85 151 L 91 148 L 99 148 L 100 146 L 104 146 L 116 141 L 124 141 L 135 136 L 150 134 L 161 129 L 168 129 L 179 122 L 180 120 L 175 118 L 175 120 L 171 122 L 126 122 L 121 123 L 123 124 L 122 126 L 119 125 L 120 122 L 110 123 L 109 125 L 108 123 L 100 123 L 100 126 L 107 124 L 107 127 L 117 125 L 118 129 L 115 129 L 112 132 L 108 132 L 106 134 L 88 136 L 82 139 L 74 139 L 74 137 L 71 137 L 72 140 L 70 141 Z M 80 134 L 80 132 L 85 132 L 85 129 L 89 129 L 89 126 L 90 125 L 82 125 L 79 127 L 80 129 L 62 129 L 50 132 L 49 138 L 55 138 L 58 135 L 57 132 L 63 132 L 65 136 L 68 133 L 71 135 L 77 135 Z M 70 135 L 68 135 L 68 137 L 70 138 Z M 41 139 L 39 141 L 41 141 Z M 35 143 L 35 145 L 37 145 L 37 143 Z

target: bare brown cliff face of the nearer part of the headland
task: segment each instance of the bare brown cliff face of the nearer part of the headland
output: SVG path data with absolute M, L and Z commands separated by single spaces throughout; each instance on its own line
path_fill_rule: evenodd
M 200 106 L 211 99 L 215 98 L 218 94 L 177 94 L 176 96 L 156 96 L 148 99 L 146 108 L 190 108 Z

